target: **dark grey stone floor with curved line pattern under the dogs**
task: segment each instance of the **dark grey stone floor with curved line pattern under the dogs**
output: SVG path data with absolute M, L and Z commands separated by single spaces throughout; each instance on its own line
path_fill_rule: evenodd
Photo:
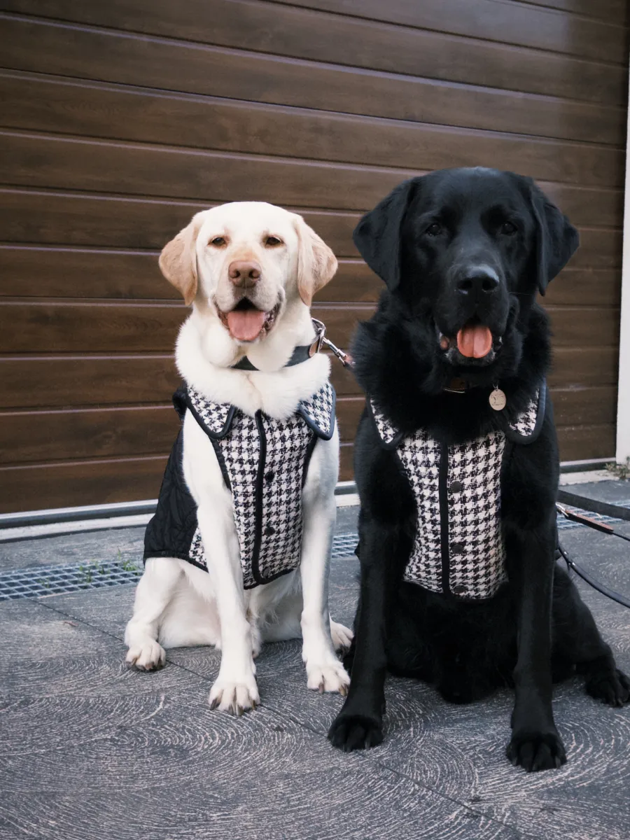
M 354 529 L 345 510 L 340 530 Z M 620 526 L 630 534 L 630 523 Z M 0 546 L 3 569 L 113 559 L 137 529 Z M 567 548 L 630 593 L 630 544 L 575 528 Z M 35 544 L 37 543 L 37 544 Z M 88 556 L 89 555 L 89 556 Z M 333 562 L 331 605 L 350 623 L 353 559 Z M 630 611 L 582 590 L 630 672 Z M 555 690 L 569 754 L 525 774 L 504 757 L 512 698 L 448 706 L 389 679 L 386 743 L 344 755 L 326 740 L 339 696 L 306 687 L 299 643 L 258 660 L 258 711 L 210 711 L 208 648 L 172 650 L 164 670 L 123 664 L 133 587 L 0 604 L 0 838 L 37 840 L 622 840 L 630 825 L 630 709 Z

